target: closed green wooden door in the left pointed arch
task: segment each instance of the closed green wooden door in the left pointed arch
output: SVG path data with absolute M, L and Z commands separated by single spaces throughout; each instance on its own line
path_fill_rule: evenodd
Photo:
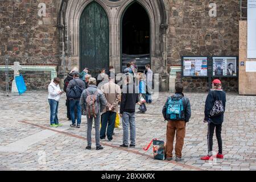
M 109 67 L 109 19 L 103 7 L 93 1 L 80 18 L 80 69 L 96 76 Z

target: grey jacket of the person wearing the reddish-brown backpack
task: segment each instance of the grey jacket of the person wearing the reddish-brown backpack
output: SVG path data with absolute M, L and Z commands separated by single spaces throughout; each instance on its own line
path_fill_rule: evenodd
M 91 94 L 94 94 L 98 90 L 96 102 L 98 102 L 99 109 L 102 112 L 105 109 L 106 105 L 108 105 L 108 101 L 106 100 L 104 93 L 100 89 L 98 89 L 96 85 L 89 85 L 86 90 L 88 90 L 88 92 Z M 84 110 L 86 110 L 86 98 L 88 96 L 86 90 L 82 92 L 82 95 L 80 98 L 80 105 Z

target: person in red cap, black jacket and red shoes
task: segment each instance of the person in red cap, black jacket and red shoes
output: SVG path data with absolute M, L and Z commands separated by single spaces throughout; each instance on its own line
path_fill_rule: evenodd
M 226 93 L 221 89 L 221 81 L 216 79 L 212 82 L 213 89 L 210 90 L 205 101 L 204 122 L 208 123 L 208 155 L 201 157 L 201 160 L 212 160 L 213 133 L 216 128 L 216 138 L 218 141 L 218 159 L 223 159 L 221 128 L 224 120 L 226 106 Z

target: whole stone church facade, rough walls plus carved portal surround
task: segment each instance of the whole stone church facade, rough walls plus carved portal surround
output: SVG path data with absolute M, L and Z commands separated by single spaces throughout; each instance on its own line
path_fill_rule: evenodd
M 108 64 L 116 72 L 122 71 L 123 14 L 134 2 L 146 10 L 150 20 L 151 67 L 159 74 L 161 90 L 168 90 L 170 67 L 180 66 L 182 55 L 238 56 L 238 0 L 3 0 L 0 1 L 0 65 L 5 64 L 3 56 L 9 55 L 11 61 L 21 64 L 57 65 L 58 72 L 80 68 L 80 19 L 92 2 L 97 2 L 108 17 Z M 209 16 L 211 2 L 217 5 L 216 17 Z M 65 59 L 49 55 L 65 55 Z M 22 56 L 34 57 L 18 58 Z M 177 72 L 177 81 L 180 76 Z M 41 84 L 46 85 L 47 79 Z M 237 78 L 223 80 L 228 91 L 237 92 Z M 32 78 L 30 81 L 33 82 Z M 184 78 L 183 84 L 188 91 L 206 91 L 207 81 L 207 78 Z

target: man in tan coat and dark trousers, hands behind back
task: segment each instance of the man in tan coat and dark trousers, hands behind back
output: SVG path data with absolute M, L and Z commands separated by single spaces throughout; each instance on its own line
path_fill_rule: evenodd
M 101 90 L 112 107 L 106 107 L 101 115 L 100 138 L 105 140 L 107 135 L 108 140 L 111 141 L 113 140 L 115 117 L 118 113 L 118 102 L 121 100 L 122 93 L 120 86 L 114 83 L 114 75 L 112 73 L 109 74 L 109 82 L 103 85 Z

